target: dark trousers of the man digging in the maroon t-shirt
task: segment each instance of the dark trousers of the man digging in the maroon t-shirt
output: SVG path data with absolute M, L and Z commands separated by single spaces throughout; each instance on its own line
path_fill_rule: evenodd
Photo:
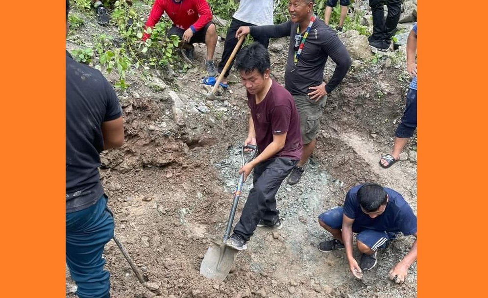
M 297 162 L 290 157 L 275 157 L 254 167 L 253 187 L 244 204 L 241 219 L 234 227 L 234 233 L 247 241 L 261 219 L 269 223 L 279 220 L 280 212 L 276 209 L 274 196 Z

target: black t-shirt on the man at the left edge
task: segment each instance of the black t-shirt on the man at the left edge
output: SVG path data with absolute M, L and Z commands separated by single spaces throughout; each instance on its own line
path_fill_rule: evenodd
M 121 116 L 110 83 L 66 51 L 66 213 L 88 208 L 103 195 L 98 173 L 101 124 Z

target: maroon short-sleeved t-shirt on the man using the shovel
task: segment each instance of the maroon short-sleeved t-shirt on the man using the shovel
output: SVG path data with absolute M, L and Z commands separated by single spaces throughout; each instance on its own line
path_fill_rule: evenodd
M 272 81 L 268 94 L 259 104 L 256 104 L 256 96 L 247 92 L 258 149 L 262 152 L 273 141 L 273 134 L 286 132 L 285 147 L 272 157 L 300 159 L 303 142 L 295 102 L 285 87 Z

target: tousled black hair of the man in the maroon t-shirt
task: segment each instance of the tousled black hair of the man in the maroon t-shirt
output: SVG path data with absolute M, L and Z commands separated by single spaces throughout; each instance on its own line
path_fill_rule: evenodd
M 270 67 L 268 50 L 258 42 L 244 47 L 236 58 L 236 69 L 244 71 L 246 74 L 257 70 L 261 75 L 264 75 Z

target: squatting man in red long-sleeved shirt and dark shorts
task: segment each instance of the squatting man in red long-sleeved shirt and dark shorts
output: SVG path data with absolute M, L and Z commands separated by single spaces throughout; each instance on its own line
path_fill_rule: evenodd
M 146 22 L 147 27 L 154 27 L 163 13 L 170 17 L 173 26 L 168 35 L 181 38 L 188 58 L 193 57 L 193 44 L 205 43 L 207 46 L 206 68 L 209 76 L 217 75 L 214 65 L 214 52 L 217 44 L 217 29 L 212 23 L 212 12 L 205 0 L 155 0 Z M 142 40 L 149 38 L 145 33 Z

